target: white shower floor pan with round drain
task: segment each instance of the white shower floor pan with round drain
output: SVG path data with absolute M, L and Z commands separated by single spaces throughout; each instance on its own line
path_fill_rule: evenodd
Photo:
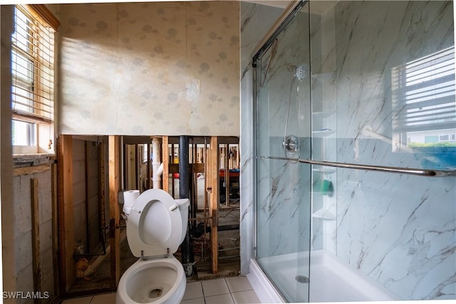
M 289 253 L 260 259 L 267 273 L 293 302 L 351 302 L 400 300 L 360 271 L 342 263 L 328 251 Z

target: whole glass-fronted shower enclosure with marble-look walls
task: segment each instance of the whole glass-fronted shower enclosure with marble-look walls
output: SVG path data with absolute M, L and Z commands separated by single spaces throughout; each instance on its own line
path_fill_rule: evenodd
M 254 53 L 254 263 L 281 300 L 456 298 L 452 5 L 296 1 Z

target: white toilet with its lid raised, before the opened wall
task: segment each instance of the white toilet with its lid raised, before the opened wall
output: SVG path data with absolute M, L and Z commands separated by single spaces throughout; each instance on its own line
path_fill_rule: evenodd
M 180 303 L 187 280 L 172 254 L 184 241 L 190 201 L 162 189 L 124 197 L 128 246 L 139 259 L 120 278 L 115 303 Z

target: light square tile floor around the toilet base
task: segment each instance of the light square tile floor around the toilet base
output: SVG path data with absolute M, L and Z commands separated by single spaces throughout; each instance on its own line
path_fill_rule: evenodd
M 115 303 L 115 293 L 63 300 L 62 304 Z M 244 276 L 217 278 L 187 283 L 181 304 L 260 303 L 257 294 Z

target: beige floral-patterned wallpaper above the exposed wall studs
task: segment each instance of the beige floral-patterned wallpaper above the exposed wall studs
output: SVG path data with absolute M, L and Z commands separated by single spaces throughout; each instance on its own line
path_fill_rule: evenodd
M 239 136 L 239 2 L 61 4 L 62 134 Z

